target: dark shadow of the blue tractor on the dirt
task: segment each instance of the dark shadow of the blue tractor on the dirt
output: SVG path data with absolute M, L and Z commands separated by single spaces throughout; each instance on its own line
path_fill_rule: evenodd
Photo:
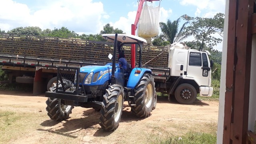
M 75 110 L 75 109 L 74 109 Z M 79 115 L 79 114 L 76 114 Z M 76 116 L 74 114 L 70 114 L 72 116 Z M 107 132 L 100 127 L 100 112 L 97 112 L 93 108 L 88 108 L 83 111 L 80 118 L 76 119 L 68 119 L 62 122 L 56 122 L 54 120 L 48 119 L 42 122 L 40 125 L 43 127 L 50 128 L 40 128 L 37 129 L 39 131 L 50 132 L 54 134 L 59 134 L 62 136 L 67 136 L 70 138 L 77 138 L 74 136 L 75 133 L 81 130 L 88 130 L 94 132 L 93 136 L 108 136 L 112 134 L 114 131 Z M 141 118 L 137 118 L 132 112 L 130 112 L 130 107 L 124 104 L 124 108 L 122 110 L 122 116 L 120 119 L 120 125 L 124 122 L 134 122 L 142 120 Z M 76 134 L 75 134 L 76 135 Z

